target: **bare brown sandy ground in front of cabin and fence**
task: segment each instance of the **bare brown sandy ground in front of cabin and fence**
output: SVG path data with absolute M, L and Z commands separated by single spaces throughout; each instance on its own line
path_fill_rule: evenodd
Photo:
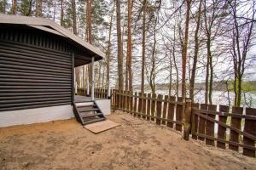
M 0 128 L 0 169 L 256 169 L 256 159 L 116 112 L 94 134 L 74 119 Z

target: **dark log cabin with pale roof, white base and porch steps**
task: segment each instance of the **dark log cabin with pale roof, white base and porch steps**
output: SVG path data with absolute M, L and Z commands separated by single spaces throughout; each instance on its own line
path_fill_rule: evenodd
M 52 20 L 0 14 L 0 127 L 73 116 L 82 124 L 104 120 L 110 102 L 97 104 L 94 81 L 90 98 L 74 94 L 74 68 L 91 64 L 93 77 L 103 57 Z

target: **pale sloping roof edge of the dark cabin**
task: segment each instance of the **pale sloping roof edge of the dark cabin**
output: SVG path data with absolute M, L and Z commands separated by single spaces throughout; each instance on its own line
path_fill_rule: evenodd
M 96 56 L 96 60 L 105 57 L 105 54 L 99 48 L 94 47 L 88 42 L 84 42 L 81 38 L 74 35 L 66 28 L 57 25 L 53 20 L 12 14 L 0 14 L 0 24 L 26 25 L 39 30 L 48 31 L 55 35 L 65 37 L 71 42 L 79 44 L 79 46 L 84 48 L 84 50 L 89 50 Z

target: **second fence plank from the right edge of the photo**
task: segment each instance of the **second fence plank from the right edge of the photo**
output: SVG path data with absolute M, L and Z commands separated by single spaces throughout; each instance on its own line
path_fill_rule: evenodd
M 242 114 L 243 108 L 242 107 L 232 107 L 232 113 Z M 237 129 L 241 130 L 241 118 L 232 117 L 231 116 L 231 127 L 236 127 Z M 230 129 L 230 141 L 239 143 L 239 133 Z M 238 146 L 236 145 L 229 145 L 230 150 L 238 151 Z

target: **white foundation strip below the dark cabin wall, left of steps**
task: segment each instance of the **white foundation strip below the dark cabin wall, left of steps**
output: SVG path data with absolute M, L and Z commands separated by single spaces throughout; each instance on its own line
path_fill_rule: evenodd
M 73 105 L 58 105 L 18 111 L 0 111 L 0 127 L 72 118 Z

